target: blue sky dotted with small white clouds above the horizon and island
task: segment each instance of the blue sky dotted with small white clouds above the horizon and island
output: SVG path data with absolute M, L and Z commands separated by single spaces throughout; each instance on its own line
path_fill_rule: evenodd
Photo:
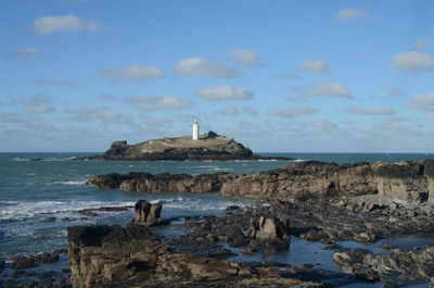
M 0 1 L 0 152 L 214 130 L 434 152 L 434 1 Z

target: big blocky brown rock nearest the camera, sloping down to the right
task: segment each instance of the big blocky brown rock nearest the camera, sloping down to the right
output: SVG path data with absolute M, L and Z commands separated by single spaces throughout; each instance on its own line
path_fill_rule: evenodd
M 174 252 L 148 227 L 136 224 L 129 224 L 126 228 L 69 227 L 68 251 L 71 281 L 76 288 L 122 287 L 132 283 L 145 284 L 146 287 L 187 287 L 178 281 L 180 279 L 189 279 L 189 287 L 225 287 L 224 283 L 240 280 L 245 284 L 264 281 L 263 285 L 253 287 L 265 287 L 265 284 L 266 287 L 283 287 L 290 283 L 271 271 Z M 248 278 L 253 279 L 246 281 Z M 204 279 L 207 279 L 208 285 L 203 285 Z M 214 281 L 215 285 L 210 285 Z M 294 287 L 326 287 L 319 283 L 299 279 L 292 281 Z

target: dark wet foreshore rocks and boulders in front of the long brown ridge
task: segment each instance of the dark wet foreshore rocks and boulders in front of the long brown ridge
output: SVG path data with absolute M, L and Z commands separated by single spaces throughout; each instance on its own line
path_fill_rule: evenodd
M 2 285 L 335 287 L 383 283 L 383 287 L 399 287 L 429 285 L 434 277 L 434 246 L 407 251 L 384 245 L 393 252 L 374 254 L 340 245 L 419 234 L 434 236 L 431 202 L 401 205 L 378 196 L 294 202 L 271 200 L 252 208 L 228 206 L 221 216 L 186 216 L 182 221 L 162 220 L 162 204 L 140 200 L 135 206 L 132 223 L 125 227 L 72 226 L 68 228 L 71 271 L 35 273 L 27 270 L 56 262 L 59 254 L 65 251 L 11 259 L 12 264 L 7 265 L 15 271 L 10 276 L 16 278 Z M 153 230 L 159 226 L 180 227 L 186 231 L 180 236 L 162 236 Z M 293 237 L 326 243 L 324 249 L 334 251 L 333 260 L 342 272 L 317 268 L 315 263 L 228 261 L 237 253 L 248 256 L 288 251 Z

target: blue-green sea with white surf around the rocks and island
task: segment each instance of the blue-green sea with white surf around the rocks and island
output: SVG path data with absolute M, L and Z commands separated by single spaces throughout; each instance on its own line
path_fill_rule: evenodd
M 434 159 L 434 153 L 259 153 L 286 156 L 293 161 L 81 161 L 75 158 L 99 153 L 0 153 L 0 259 L 51 252 L 67 248 L 66 228 L 73 225 L 126 224 L 131 221 L 136 201 L 144 199 L 163 204 L 162 217 L 221 215 L 228 205 L 265 204 L 261 200 L 226 198 L 219 193 L 143 193 L 101 190 L 85 185 L 94 175 L 107 173 L 148 172 L 205 174 L 215 172 L 254 173 L 284 165 L 316 160 L 334 163 L 398 162 Z M 120 211 L 101 208 L 127 208 Z M 89 210 L 92 212 L 89 215 Z M 162 234 L 179 233 L 176 229 Z M 408 237 L 388 239 L 398 247 L 411 248 L 432 239 Z M 344 243 L 358 247 L 358 243 Z M 381 252 L 381 242 L 368 247 Z M 302 251 L 302 252 L 301 252 Z M 288 252 L 278 255 L 255 255 L 233 261 L 272 260 L 292 264 L 311 263 L 339 270 L 332 251 L 320 243 L 293 238 Z

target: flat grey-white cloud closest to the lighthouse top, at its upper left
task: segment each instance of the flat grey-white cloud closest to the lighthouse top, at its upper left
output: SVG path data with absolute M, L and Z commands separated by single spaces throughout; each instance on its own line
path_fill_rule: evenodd
M 125 100 L 143 111 L 181 110 L 188 109 L 192 104 L 188 100 L 170 96 L 131 96 Z

